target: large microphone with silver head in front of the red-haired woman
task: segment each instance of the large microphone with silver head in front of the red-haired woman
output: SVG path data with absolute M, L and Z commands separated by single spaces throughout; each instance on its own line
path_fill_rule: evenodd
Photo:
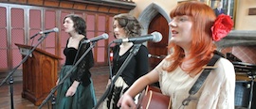
M 153 32 L 149 35 L 136 37 L 136 38 L 128 38 L 128 39 L 115 39 L 113 42 L 121 43 L 121 42 L 134 42 L 134 43 L 142 43 L 144 41 L 152 40 L 154 42 L 159 42 L 162 40 L 162 35 L 159 32 Z

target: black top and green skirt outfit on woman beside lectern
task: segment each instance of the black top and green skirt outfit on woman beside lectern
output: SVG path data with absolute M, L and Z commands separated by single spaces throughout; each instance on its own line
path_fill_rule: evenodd
M 88 49 L 88 46 L 85 46 L 84 48 Z M 60 81 L 68 72 L 70 72 L 69 70 L 72 69 L 77 52 L 78 50 L 75 48 L 64 49 L 66 58 L 64 67 L 59 75 Z M 82 54 L 78 54 L 78 57 L 81 55 Z M 76 61 L 78 59 L 79 58 L 77 58 Z M 71 75 L 65 79 L 64 84 L 58 88 L 56 109 L 92 109 L 95 106 L 95 90 L 89 72 L 89 69 L 93 66 L 93 62 L 88 63 L 88 61 L 93 61 L 92 53 L 90 52 L 87 54 L 83 60 L 84 61 L 78 65 L 76 71 L 72 72 Z M 65 97 L 67 89 L 75 80 L 80 82 L 75 95 L 72 97 Z

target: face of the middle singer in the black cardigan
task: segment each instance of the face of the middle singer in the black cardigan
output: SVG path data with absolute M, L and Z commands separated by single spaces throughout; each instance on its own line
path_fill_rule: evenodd
M 117 20 L 114 21 L 113 29 L 114 29 L 114 34 L 115 34 L 117 39 L 127 38 L 123 27 L 121 27 L 119 25 L 119 22 Z

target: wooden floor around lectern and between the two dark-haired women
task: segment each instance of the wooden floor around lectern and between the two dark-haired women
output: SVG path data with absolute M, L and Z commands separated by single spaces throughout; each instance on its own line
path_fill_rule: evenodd
M 95 92 L 97 100 L 101 99 L 102 94 L 105 91 L 105 86 L 108 81 L 109 70 L 108 67 L 94 68 L 91 70 L 92 79 L 95 86 Z M 1 82 L 6 77 L 7 73 L 0 72 Z M 22 71 L 17 70 L 13 73 L 13 106 L 14 109 L 38 109 L 32 102 L 23 99 L 21 96 L 23 83 L 22 83 Z M 11 100 L 9 93 L 9 84 L 4 84 L 0 87 L 0 109 L 11 109 Z M 51 109 L 51 104 L 46 103 L 43 109 Z

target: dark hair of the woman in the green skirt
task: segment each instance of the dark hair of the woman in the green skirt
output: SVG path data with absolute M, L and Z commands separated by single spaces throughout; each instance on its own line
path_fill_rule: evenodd
M 66 18 L 70 18 L 74 22 L 74 28 L 79 33 L 82 34 L 84 37 L 86 37 L 86 23 L 82 19 L 82 17 L 75 15 L 75 14 L 68 14 L 64 17 L 64 20 Z

